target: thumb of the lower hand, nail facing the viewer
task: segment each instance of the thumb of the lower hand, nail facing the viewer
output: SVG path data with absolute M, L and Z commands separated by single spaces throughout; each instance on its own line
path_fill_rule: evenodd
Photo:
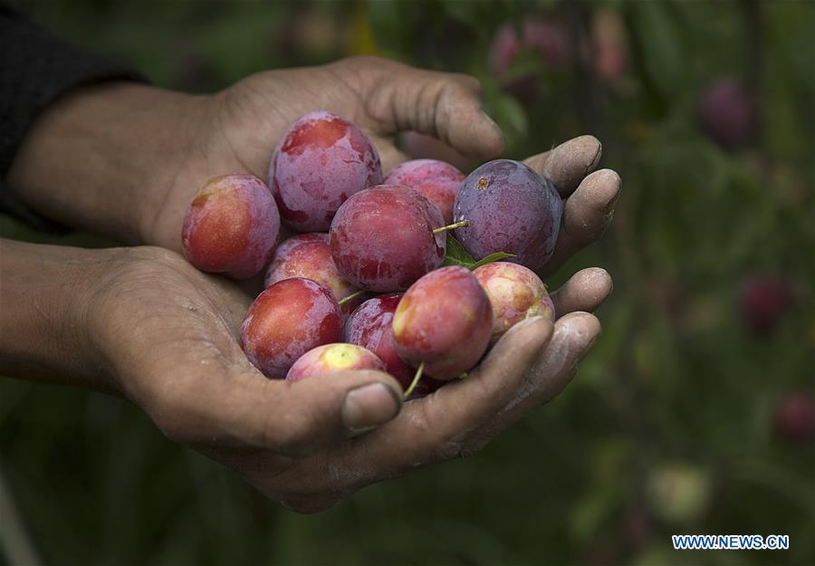
M 143 405 L 167 436 L 192 446 L 308 455 L 396 417 L 402 402 L 396 379 L 373 370 L 297 382 L 245 369 L 192 378 L 165 379 Z

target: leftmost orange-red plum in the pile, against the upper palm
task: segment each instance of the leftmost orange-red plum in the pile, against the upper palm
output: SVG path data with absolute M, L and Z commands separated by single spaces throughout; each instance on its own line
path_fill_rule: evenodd
M 181 244 L 201 271 L 246 279 L 264 268 L 279 235 L 280 215 L 264 182 L 225 175 L 207 181 L 187 207 Z

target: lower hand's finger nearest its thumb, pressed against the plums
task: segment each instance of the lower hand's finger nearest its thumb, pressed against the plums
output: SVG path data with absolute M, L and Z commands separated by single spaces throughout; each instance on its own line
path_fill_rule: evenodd
M 470 431 L 513 398 L 551 332 L 551 322 L 542 317 L 517 324 L 465 379 L 409 402 L 388 425 L 355 439 L 333 460 L 331 476 L 355 489 L 456 456 Z

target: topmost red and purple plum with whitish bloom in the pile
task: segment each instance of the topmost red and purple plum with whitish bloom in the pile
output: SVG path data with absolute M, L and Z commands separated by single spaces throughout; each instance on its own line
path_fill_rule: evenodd
M 295 121 L 269 164 L 283 224 L 298 232 L 325 232 L 345 199 L 381 182 L 379 153 L 368 136 L 325 111 Z

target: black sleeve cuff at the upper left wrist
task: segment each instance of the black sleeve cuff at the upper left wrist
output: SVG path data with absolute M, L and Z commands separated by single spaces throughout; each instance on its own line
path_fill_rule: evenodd
M 76 86 L 117 79 L 145 82 L 139 73 L 83 53 L 0 5 L 0 179 L 43 108 Z M 5 193 L 0 211 L 25 220 L 20 214 L 24 208 L 10 204 L 14 196 L 2 183 L 0 191 Z

